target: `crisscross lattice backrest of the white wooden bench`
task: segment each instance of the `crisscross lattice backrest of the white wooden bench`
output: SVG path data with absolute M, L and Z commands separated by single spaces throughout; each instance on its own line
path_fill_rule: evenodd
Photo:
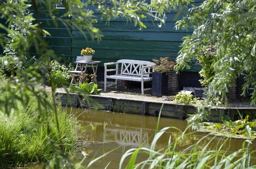
M 121 73 L 120 75 L 132 75 L 132 76 L 141 76 L 141 67 L 142 66 L 155 66 L 155 63 L 151 61 L 138 61 L 138 60 L 129 60 L 121 59 L 117 63 L 121 63 Z M 144 72 L 150 72 L 150 68 L 144 69 Z M 149 77 L 149 74 L 143 75 Z

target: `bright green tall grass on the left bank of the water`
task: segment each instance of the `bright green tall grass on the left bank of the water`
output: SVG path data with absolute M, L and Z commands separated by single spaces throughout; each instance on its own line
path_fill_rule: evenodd
M 5 96 L 0 93 L 0 97 Z M 49 97 L 49 100 L 52 101 L 52 98 Z M 51 159 L 53 148 L 45 148 L 49 147 L 49 140 L 55 141 L 54 145 L 59 147 L 53 111 L 42 107 L 40 114 L 36 98 L 32 98 L 26 108 L 21 103 L 17 105 L 19 111 L 11 112 L 10 116 L 3 109 L 0 111 L 0 168 Z M 77 141 L 78 123 L 76 118 L 62 110 L 60 104 L 57 105 L 57 114 L 63 147 L 70 152 Z

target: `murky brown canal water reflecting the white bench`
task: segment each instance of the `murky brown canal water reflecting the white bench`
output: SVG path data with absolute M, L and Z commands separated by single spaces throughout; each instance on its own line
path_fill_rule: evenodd
M 82 165 L 87 166 L 93 159 L 104 155 L 103 158 L 97 160 L 90 167 L 91 169 L 104 169 L 108 163 L 107 169 L 118 169 L 119 161 L 125 151 L 131 148 L 138 148 L 141 144 L 143 147 L 150 147 L 151 142 L 155 135 L 155 129 L 158 122 L 157 116 L 142 116 L 136 114 L 116 113 L 107 111 L 94 111 L 77 108 L 67 108 L 68 112 L 75 114 L 81 125 L 81 131 L 79 134 L 80 150 L 87 154 L 87 158 L 83 161 Z M 160 118 L 159 130 L 164 127 L 177 127 L 181 131 L 184 131 L 187 122 L 185 120 Z M 105 128 L 105 130 L 104 130 Z M 191 130 L 188 132 L 191 132 Z M 184 150 L 185 148 L 196 143 L 207 133 L 196 132 L 184 137 L 184 140 L 178 142 L 177 150 Z M 174 142 L 176 138 L 180 136 L 180 132 L 176 129 L 168 129 L 160 137 L 156 144 L 156 150 L 160 150 L 168 144 L 169 138 Z M 214 136 L 209 135 L 200 141 L 197 149 L 202 150 L 203 147 L 213 138 Z M 222 143 L 225 140 L 223 137 L 216 137 L 212 144 L 207 148 L 210 150 L 213 145 Z M 230 151 L 236 151 L 242 148 L 243 139 L 231 139 L 226 142 L 222 150 L 228 149 L 230 144 Z M 81 160 L 83 155 L 81 153 L 77 161 Z M 148 155 L 139 154 L 138 160 L 140 162 L 146 160 Z M 129 159 L 124 161 L 124 168 Z M 42 165 L 37 164 L 36 166 L 27 166 L 31 169 L 42 168 Z

